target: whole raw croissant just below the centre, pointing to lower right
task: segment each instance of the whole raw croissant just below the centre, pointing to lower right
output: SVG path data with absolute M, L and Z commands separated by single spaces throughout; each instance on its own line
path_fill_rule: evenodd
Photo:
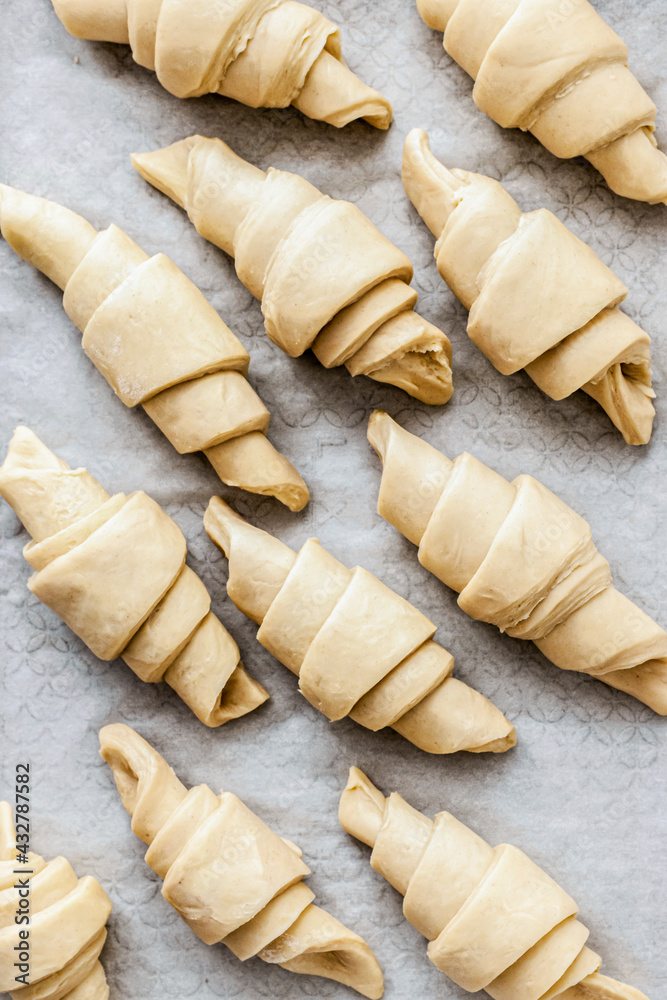
M 295 553 L 219 497 L 204 526 L 229 559 L 232 601 L 328 719 L 391 726 L 429 753 L 514 746 L 495 705 L 452 677 L 453 657 L 431 640 L 435 625 L 377 577 L 349 570 L 315 538 Z

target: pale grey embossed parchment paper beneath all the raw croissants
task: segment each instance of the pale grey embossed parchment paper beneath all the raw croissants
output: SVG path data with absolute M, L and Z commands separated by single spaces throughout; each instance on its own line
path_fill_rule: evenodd
M 103 961 L 118 998 L 352 994 L 259 960 L 242 965 L 226 949 L 202 944 L 179 920 L 143 863 L 143 847 L 97 756 L 97 731 L 113 721 L 137 728 L 187 784 L 237 792 L 301 844 L 318 902 L 375 948 L 388 997 L 468 994 L 429 963 L 425 941 L 402 918 L 398 894 L 372 871 L 369 851 L 339 828 L 338 796 L 350 764 L 431 814 L 449 809 L 492 843 L 527 851 L 577 898 L 603 971 L 659 1000 L 667 983 L 665 722 L 459 611 L 454 595 L 418 565 L 414 548 L 375 513 L 379 462 L 365 427 L 371 409 L 382 407 L 451 456 L 467 449 L 508 478 L 540 478 L 588 518 L 619 587 L 665 624 L 667 209 L 617 198 L 588 165 L 557 161 L 531 137 L 477 112 L 471 81 L 412 0 L 316 6 L 341 25 L 350 65 L 393 101 L 387 134 L 364 123 L 339 131 L 293 109 L 253 111 L 214 97 L 179 101 L 133 63 L 128 48 L 71 38 L 48 0 L 1 4 L 0 177 L 63 202 L 98 228 L 115 222 L 197 282 L 249 348 L 251 382 L 271 410 L 272 439 L 305 476 L 312 500 L 290 514 L 277 502 L 221 488 L 203 456 L 179 457 L 86 359 L 58 289 L 0 244 L 3 453 L 23 422 L 70 464 L 87 465 L 110 492 L 145 489 L 162 503 L 187 535 L 189 562 L 209 587 L 214 610 L 272 694 L 250 716 L 211 731 L 166 686 L 142 684 L 120 661 L 97 661 L 27 591 L 26 535 L 2 504 L 0 794 L 11 795 L 15 764 L 28 757 L 35 849 L 64 853 L 113 899 Z M 662 108 L 665 148 L 660 40 L 667 36 L 667 3 L 597 6 L 627 41 L 631 66 Z M 504 378 L 468 341 L 465 311 L 440 280 L 432 238 L 401 186 L 401 147 L 413 126 L 428 129 L 434 152 L 450 166 L 498 177 L 525 210 L 550 208 L 626 282 L 627 312 L 654 336 L 658 417 L 650 446 L 624 445 L 580 393 L 556 403 L 522 374 Z M 420 311 L 454 347 L 455 392 L 446 407 L 353 380 L 345 369 L 325 371 L 310 355 L 291 360 L 268 341 L 259 304 L 231 261 L 130 167 L 130 152 L 194 132 L 220 136 L 261 167 L 300 171 L 323 191 L 356 201 L 411 256 Z M 439 624 L 458 676 L 516 723 L 516 749 L 438 758 L 391 732 L 329 724 L 226 598 L 226 562 L 201 522 L 216 492 L 295 546 L 317 535 L 339 559 L 362 564 L 413 601 Z

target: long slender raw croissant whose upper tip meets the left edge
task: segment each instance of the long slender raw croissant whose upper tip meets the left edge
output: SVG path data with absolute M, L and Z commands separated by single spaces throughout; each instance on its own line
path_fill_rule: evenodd
M 224 483 L 306 505 L 306 484 L 266 437 L 269 411 L 244 377 L 248 352 L 168 257 L 3 184 L 0 227 L 63 289 L 84 351 L 126 406 L 141 403 L 180 454 L 202 450 Z

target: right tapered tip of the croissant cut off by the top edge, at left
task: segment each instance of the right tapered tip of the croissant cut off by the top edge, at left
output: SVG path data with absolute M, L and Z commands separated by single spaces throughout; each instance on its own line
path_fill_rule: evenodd
M 389 128 L 393 117 L 387 98 L 363 83 L 349 66 L 326 49 L 311 66 L 303 89 L 292 104 L 309 118 L 336 128 L 364 118 L 384 130 Z

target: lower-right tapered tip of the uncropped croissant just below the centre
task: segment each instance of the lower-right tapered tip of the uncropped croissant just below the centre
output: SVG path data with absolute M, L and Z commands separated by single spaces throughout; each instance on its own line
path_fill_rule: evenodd
M 427 753 L 504 753 L 516 746 L 516 729 L 500 709 L 456 677 L 448 677 L 392 729 Z

